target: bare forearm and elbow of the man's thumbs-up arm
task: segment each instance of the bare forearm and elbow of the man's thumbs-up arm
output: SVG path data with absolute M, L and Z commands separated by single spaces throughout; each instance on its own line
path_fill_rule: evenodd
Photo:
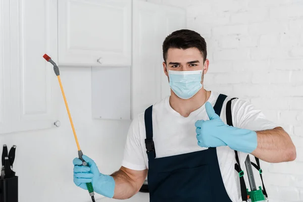
M 295 146 L 281 127 L 257 131 L 257 139 L 258 146 L 251 154 L 263 161 L 279 163 L 296 158 Z

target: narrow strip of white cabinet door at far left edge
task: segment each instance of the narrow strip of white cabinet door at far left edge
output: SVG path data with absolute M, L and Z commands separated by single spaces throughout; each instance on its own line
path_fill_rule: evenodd
M 0 133 L 11 129 L 10 2 L 0 0 Z

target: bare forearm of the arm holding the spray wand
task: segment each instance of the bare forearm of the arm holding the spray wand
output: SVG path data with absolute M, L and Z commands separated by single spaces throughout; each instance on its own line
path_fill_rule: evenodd
M 144 176 L 146 177 L 144 172 Z M 113 198 L 127 199 L 135 195 L 141 188 L 145 177 L 132 175 L 123 168 L 111 175 L 115 180 L 115 194 Z M 141 179 L 142 178 L 142 179 Z M 141 183 L 142 181 L 142 183 Z M 139 182 L 139 183 L 138 183 Z

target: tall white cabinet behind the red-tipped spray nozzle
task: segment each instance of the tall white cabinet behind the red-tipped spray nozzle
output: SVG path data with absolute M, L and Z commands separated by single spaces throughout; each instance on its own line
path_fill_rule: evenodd
M 57 0 L 3 0 L 1 5 L 0 133 L 54 127 L 59 84 L 42 56 L 58 59 Z

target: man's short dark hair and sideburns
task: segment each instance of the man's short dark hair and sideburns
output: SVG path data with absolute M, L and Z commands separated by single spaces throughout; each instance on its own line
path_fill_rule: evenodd
M 199 33 L 192 30 L 181 29 L 174 31 L 168 35 L 163 42 L 163 59 L 166 62 L 169 48 L 187 49 L 191 47 L 196 47 L 199 49 L 204 58 L 203 62 L 205 62 L 207 58 L 205 39 Z

